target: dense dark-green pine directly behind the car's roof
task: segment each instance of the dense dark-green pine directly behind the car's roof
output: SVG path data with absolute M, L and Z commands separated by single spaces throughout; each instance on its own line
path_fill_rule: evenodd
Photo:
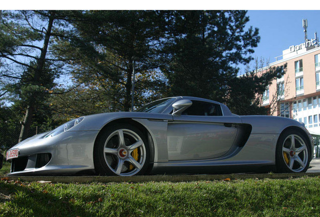
M 172 11 L 167 14 L 168 44 L 163 70 L 172 95 L 191 95 L 224 102 L 239 63 L 249 63 L 258 29 L 246 11 Z

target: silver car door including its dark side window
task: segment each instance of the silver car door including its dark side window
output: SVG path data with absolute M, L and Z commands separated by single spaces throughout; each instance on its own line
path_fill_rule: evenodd
M 182 115 L 168 123 L 169 161 L 217 158 L 232 147 L 238 116 L 223 116 L 220 104 L 192 100 Z

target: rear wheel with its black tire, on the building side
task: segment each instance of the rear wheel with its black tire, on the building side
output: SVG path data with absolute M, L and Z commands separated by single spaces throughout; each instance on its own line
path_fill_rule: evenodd
M 278 173 L 305 172 L 311 160 L 310 142 L 297 130 L 283 132 L 276 147 Z

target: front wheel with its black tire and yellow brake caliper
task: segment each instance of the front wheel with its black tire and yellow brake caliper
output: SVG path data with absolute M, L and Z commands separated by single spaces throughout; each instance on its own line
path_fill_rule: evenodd
M 115 124 L 97 138 L 94 147 L 97 175 L 143 175 L 149 162 L 147 139 L 132 125 Z

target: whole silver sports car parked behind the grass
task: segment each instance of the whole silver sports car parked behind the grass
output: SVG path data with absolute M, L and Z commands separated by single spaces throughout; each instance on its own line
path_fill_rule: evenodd
M 11 176 L 216 173 L 271 166 L 305 172 L 313 156 L 303 123 L 237 116 L 197 97 L 153 101 L 136 112 L 81 117 L 7 152 Z

